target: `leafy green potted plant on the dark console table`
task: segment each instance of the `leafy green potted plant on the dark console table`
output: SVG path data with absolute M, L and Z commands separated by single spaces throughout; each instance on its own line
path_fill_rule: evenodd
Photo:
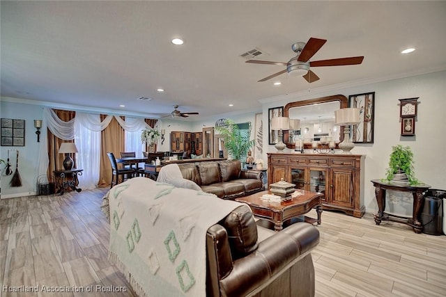
M 403 147 L 402 145 L 393 146 L 385 180 L 388 182 L 406 181 L 409 184 L 418 184 L 419 181 L 415 178 L 413 163 L 413 152 L 410 150 L 410 147 Z

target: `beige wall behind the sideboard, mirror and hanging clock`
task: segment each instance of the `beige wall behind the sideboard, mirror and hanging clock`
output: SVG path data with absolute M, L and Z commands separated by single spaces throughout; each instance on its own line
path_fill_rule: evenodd
M 268 108 L 284 106 L 288 102 L 324 97 L 375 92 L 375 128 L 373 144 L 356 144 L 353 154 L 365 154 L 364 204 L 366 211 L 378 209 L 375 191 L 370 180 L 385 177 L 388 156 L 393 145 L 408 145 L 415 159 L 415 177 L 433 188 L 446 189 L 446 72 L 418 75 L 405 79 L 394 79 L 363 86 L 332 88 L 302 95 L 275 98 L 273 102 L 262 100 L 263 121 L 268 121 Z M 415 137 L 401 137 L 399 122 L 399 100 L 420 97 Z M 272 99 L 271 99 L 272 100 Z M 263 142 L 267 152 L 275 152 L 268 140 Z M 386 211 L 396 214 L 412 214 L 412 198 L 406 194 L 389 191 Z

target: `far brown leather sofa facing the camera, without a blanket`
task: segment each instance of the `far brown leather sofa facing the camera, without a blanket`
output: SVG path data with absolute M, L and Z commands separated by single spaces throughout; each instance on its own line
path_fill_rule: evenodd
M 179 163 L 181 175 L 197 184 L 201 191 L 234 200 L 263 191 L 263 172 L 241 170 L 239 160 Z

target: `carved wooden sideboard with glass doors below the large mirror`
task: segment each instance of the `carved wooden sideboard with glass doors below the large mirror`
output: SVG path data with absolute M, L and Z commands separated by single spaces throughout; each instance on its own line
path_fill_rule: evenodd
M 268 185 L 284 179 L 324 194 L 323 209 L 362 218 L 364 155 L 268 153 Z

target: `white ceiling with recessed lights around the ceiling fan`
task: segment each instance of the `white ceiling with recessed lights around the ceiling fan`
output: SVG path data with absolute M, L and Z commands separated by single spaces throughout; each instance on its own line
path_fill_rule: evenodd
M 445 29 L 445 1 L 1 1 L 1 96 L 148 117 L 179 104 L 192 120 L 258 111 L 259 99 L 445 70 Z M 240 57 L 258 47 L 287 62 L 310 37 L 328 40 L 311 61 L 364 61 L 313 67 L 311 84 L 259 83 L 284 66 Z

